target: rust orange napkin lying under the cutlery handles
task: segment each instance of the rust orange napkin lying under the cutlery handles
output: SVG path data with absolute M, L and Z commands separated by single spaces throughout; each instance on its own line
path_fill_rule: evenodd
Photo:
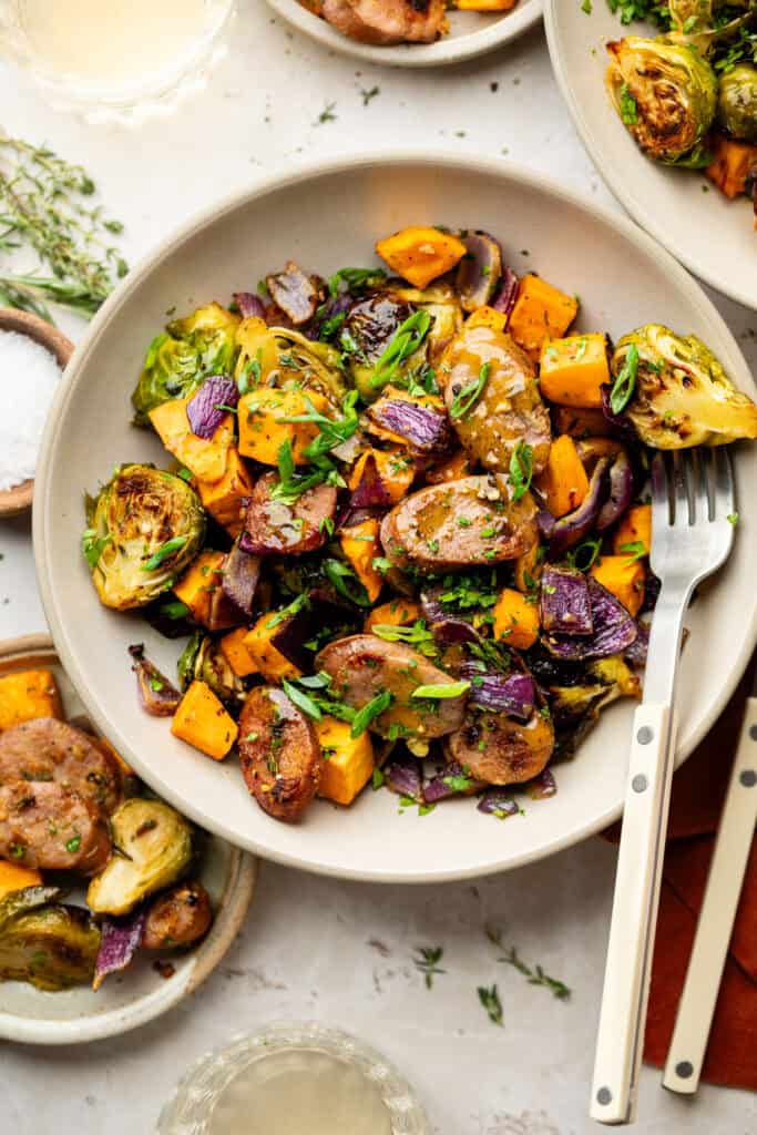
M 727 789 L 754 662 L 710 733 L 673 779 L 644 1057 L 662 1067 L 673 1035 L 715 832 Z M 606 833 L 617 840 L 620 825 Z M 703 1069 L 703 1079 L 757 1091 L 757 841 Z

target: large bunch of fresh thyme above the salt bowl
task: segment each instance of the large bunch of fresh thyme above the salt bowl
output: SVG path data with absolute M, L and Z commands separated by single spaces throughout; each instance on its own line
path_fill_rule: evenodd
M 94 192 L 81 166 L 0 135 L 0 252 L 33 250 L 50 271 L 0 275 L 0 302 L 45 319 L 48 302 L 95 313 L 128 266 L 111 241 L 120 221 L 85 203 Z

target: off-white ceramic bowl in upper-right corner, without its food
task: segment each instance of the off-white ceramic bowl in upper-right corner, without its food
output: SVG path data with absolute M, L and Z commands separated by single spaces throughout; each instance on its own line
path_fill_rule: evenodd
M 578 0 L 546 0 L 545 23 L 567 109 L 608 188 L 682 264 L 718 292 L 757 310 L 751 202 L 729 201 L 701 170 L 671 169 L 645 158 L 605 90 L 605 45 L 631 33 L 655 35 L 654 28 L 622 25 L 606 0 L 594 0 L 590 15 Z

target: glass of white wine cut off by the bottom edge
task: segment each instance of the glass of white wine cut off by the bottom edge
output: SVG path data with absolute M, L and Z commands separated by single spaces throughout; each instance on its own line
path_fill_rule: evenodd
M 429 1135 L 405 1078 L 347 1033 L 272 1025 L 202 1057 L 158 1135 Z

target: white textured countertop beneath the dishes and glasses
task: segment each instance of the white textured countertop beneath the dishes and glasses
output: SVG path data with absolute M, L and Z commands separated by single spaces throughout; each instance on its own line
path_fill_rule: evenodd
M 498 54 L 421 74 L 330 56 L 261 0 L 241 8 L 209 90 L 135 133 L 53 114 L 0 66 L 2 126 L 87 167 L 110 215 L 126 222 L 132 260 L 194 209 L 292 158 L 372 145 L 507 153 L 611 201 L 563 108 L 540 30 Z M 361 91 L 375 86 L 380 92 L 363 106 Z M 314 125 L 327 103 L 336 119 Z M 757 364 L 757 316 L 717 302 Z M 0 637 L 44 629 L 25 521 L 0 524 Z M 149 1135 L 192 1060 L 280 1018 L 342 1026 L 384 1050 L 444 1135 L 596 1130 L 586 1111 L 614 861 L 614 849 L 594 839 L 476 885 L 407 889 L 266 865 L 243 935 L 192 1001 L 85 1048 L 2 1045 L 0 1132 Z M 571 1001 L 497 965 L 485 923 L 503 926 L 525 960 L 566 982 Z M 419 945 L 445 949 L 446 973 L 430 992 L 412 962 Z M 476 993 L 494 982 L 504 1028 L 489 1023 Z M 688 1102 L 663 1092 L 648 1069 L 640 1115 L 644 1135 L 757 1129 L 754 1096 L 705 1086 Z

